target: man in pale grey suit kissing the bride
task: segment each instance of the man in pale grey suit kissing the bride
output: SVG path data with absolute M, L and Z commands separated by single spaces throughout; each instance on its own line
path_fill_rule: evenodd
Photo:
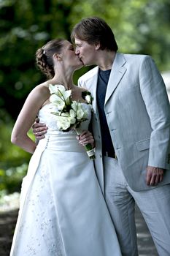
M 138 255 L 136 202 L 158 254 L 168 256 L 170 108 L 160 72 L 150 56 L 117 53 L 112 29 L 101 18 L 81 20 L 72 39 L 82 63 L 97 65 L 78 83 L 94 97 L 96 173 L 122 254 Z M 45 134 L 41 124 L 35 132 L 36 138 Z

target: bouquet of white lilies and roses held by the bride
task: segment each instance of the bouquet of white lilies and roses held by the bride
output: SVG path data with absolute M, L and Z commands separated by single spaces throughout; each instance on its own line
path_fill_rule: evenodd
M 57 112 L 52 112 L 56 116 L 57 126 L 60 131 L 68 132 L 74 129 L 80 135 L 80 124 L 88 119 L 88 112 L 81 102 L 72 101 L 72 90 L 66 90 L 62 85 L 49 85 L 50 102 L 57 107 Z M 92 96 L 89 91 L 83 91 L 82 97 L 88 104 L 92 103 Z M 95 154 L 91 144 L 85 145 L 85 150 L 90 159 L 95 159 Z

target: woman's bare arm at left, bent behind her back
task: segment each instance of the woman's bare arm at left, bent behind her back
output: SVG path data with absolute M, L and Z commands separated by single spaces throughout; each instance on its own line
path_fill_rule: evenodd
M 12 129 L 11 142 L 31 154 L 34 153 L 36 143 L 28 137 L 28 131 L 48 97 L 49 93 L 45 86 L 36 86 L 28 95 Z

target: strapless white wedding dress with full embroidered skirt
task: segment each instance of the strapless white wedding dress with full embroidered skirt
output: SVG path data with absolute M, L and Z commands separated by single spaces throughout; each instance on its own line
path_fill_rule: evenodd
M 85 108 L 90 119 L 90 106 Z M 58 131 L 52 111 L 52 104 L 39 111 L 48 130 L 23 178 L 10 256 L 119 256 L 93 160 L 74 131 Z

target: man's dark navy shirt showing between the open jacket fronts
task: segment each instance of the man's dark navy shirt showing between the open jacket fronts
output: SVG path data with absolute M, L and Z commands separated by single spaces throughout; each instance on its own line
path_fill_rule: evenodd
M 101 124 L 101 141 L 102 141 L 102 153 L 108 157 L 115 158 L 115 150 L 112 145 L 112 139 L 109 133 L 109 127 L 107 125 L 107 118 L 104 113 L 104 100 L 107 92 L 107 83 L 109 80 L 111 69 L 109 70 L 98 70 L 98 83 L 96 99 L 98 105 L 98 114 Z

